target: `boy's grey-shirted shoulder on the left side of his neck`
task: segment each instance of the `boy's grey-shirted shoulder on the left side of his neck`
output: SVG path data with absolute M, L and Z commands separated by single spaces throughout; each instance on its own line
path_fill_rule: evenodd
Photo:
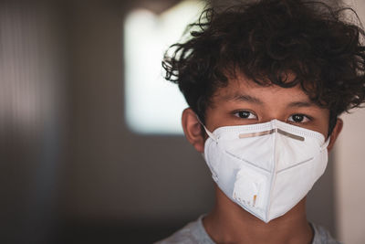
M 214 241 L 210 239 L 203 228 L 202 218 L 203 216 L 199 217 L 197 220 L 190 222 L 183 228 L 173 233 L 172 236 L 168 237 L 167 239 L 157 241 L 155 244 L 214 244 Z

